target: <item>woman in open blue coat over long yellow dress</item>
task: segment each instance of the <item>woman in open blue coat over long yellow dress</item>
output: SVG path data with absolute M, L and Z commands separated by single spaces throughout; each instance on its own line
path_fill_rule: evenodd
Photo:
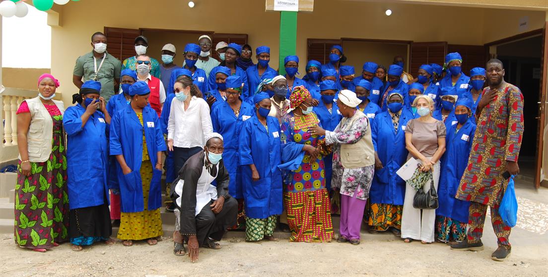
M 133 240 L 157 244 L 163 234 L 160 178 L 165 147 L 156 111 L 148 105 L 150 89 L 142 81 L 129 88 L 132 100 L 119 111 L 110 126 L 110 155 L 116 156 L 122 200 L 118 239 L 124 246 Z

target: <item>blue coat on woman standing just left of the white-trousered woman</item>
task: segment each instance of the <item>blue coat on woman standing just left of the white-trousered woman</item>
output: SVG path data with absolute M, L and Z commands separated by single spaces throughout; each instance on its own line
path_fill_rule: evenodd
M 387 111 L 376 115 L 371 121 L 373 147 L 383 163 L 383 168 L 375 169 L 369 191 L 371 203 L 403 205 L 406 182 L 396 174 L 396 171 L 407 160 L 405 128 L 407 122 L 412 119 L 409 112 L 402 111 L 397 131 Z

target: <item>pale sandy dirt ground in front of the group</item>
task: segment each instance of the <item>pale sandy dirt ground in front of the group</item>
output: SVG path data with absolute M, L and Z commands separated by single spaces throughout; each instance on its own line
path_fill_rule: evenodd
M 486 230 L 487 231 L 487 230 Z M 489 231 L 487 231 L 489 232 Z M 492 232 L 492 230 L 490 230 Z M 545 243 L 514 247 L 505 262 L 490 259 L 494 235 L 486 234 L 486 249 L 452 251 L 443 244 L 404 244 L 396 238 L 362 238 L 353 246 L 335 241 L 323 244 L 287 240 L 249 244 L 232 238 L 221 250 L 201 249 L 199 261 L 173 255 L 173 242 L 156 246 L 136 242 L 132 247 L 104 244 L 71 251 L 62 244 L 47 253 L 15 246 L 11 235 L 0 236 L 1 276 L 548 276 Z M 491 243 L 487 243 L 489 242 Z

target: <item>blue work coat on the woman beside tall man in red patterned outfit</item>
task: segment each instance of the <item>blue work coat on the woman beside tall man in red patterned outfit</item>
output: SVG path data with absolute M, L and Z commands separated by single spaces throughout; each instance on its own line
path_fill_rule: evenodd
M 439 207 L 436 209 L 436 215 L 467 223 L 470 202 L 455 199 L 455 195 L 464 169 L 468 166 L 476 124 L 469 118 L 459 131 L 456 131 L 456 126 L 455 124 L 447 128 L 446 152 L 441 160 L 442 170 L 439 175 Z

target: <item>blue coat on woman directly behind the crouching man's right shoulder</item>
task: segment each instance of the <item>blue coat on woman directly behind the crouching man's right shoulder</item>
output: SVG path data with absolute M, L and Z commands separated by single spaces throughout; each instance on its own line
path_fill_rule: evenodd
M 249 68 L 248 68 L 249 69 Z M 236 199 L 243 199 L 242 172 L 239 167 L 238 139 L 240 131 L 246 120 L 254 115 L 255 110 L 251 105 L 242 101 L 238 117 L 234 114 L 229 103 L 222 100 L 211 112 L 211 123 L 213 132 L 219 133 L 224 139 L 222 160 L 229 171 L 230 183 L 229 194 Z

